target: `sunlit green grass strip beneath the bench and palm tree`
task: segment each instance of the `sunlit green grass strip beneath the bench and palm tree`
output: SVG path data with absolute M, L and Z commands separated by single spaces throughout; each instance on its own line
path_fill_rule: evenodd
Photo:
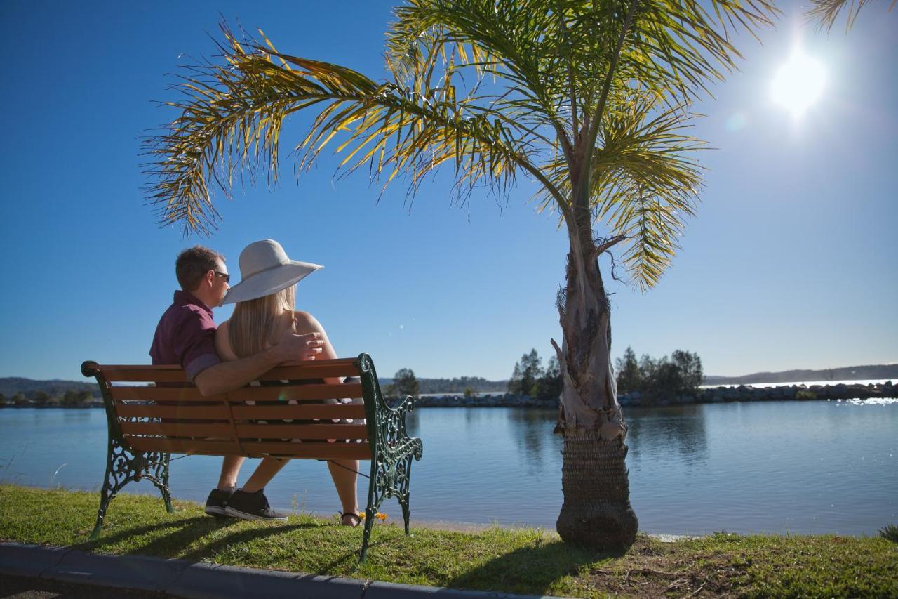
M 167 514 L 156 496 L 126 494 L 90 542 L 98 502 L 98 493 L 0 485 L 0 539 L 530 595 L 898 596 L 898 545 L 879 537 L 719 532 L 665 543 L 640 534 L 627 553 L 610 555 L 569 548 L 538 529 L 415 528 L 406 537 L 401 524 L 375 523 L 360 566 L 361 529 L 336 518 L 223 521 L 197 504 L 175 501 Z

